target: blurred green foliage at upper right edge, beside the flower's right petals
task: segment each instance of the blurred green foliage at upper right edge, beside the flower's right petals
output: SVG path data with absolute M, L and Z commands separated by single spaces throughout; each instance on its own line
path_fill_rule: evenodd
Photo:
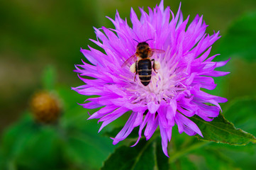
M 228 30 L 221 30 L 216 60 L 230 61 L 220 71 L 230 72 L 226 77 L 216 77 L 216 89 L 209 91 L 217 96 L 233 100 L 243 96 L 256 95 L 256 11 L 245 12 L 230 21 Z M 236 10 L 235 10 L 236 12 Z M 216 49 L 213 47 L 213 49 Z

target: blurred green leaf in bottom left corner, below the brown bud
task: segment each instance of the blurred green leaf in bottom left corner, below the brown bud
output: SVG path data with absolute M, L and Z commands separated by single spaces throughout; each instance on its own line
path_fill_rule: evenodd
M 0 150 L 2 166 L 8 169 L 57 169 L 66 165 L 55 128 L 33 123 L 28 114 L 4 132 Z

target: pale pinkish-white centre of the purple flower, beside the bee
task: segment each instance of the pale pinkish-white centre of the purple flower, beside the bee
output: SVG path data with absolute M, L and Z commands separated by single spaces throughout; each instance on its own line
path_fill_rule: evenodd
M 182 70 L 177 68 L 177 64 L 169 64 L 164 59 L 159 60 L 160 69 L 157 73 L 152 71 L 152 77 L 148 86 L 143 86 L 137 76 L 135 93 L 131 98 L 131 103 L 144 103 L 147 104 L 151 101 L 160 103 L 166 101 L 169 103 L 172 98 L 175 98 L 182 91 L 186 89 L 186 86 L 182 84 L 184 78 L 182 78 Z

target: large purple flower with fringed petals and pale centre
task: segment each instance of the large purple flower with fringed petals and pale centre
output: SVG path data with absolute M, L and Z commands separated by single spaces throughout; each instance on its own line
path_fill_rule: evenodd
M 164 8 L 163 1 L 153 10 L 148 9 L 149 13 L 146 13 L 140 8 L 141 17 L 138 19 L 131 8 L 132 28 L 126 20 L 121 19 L 118 12 L 114 20 L 109 18 L 115 29 L 94 28 L 97 40 L 91 41 L 99 45 L 104 53 L 91 47 L 89 50 L 81 49 L 91 64 L 83 62 L 76 66 L 75 72 L 79 73 L 85 85 L 73 89 L 79 94 L 97 95 L 82 106 L 89 109 L 103 107 L 89 117 L 103 122 L 99 131 L 121 115 L 128 114 L 127 111 L 132 111 L 126 125 L 113 138 L 113 145 L 126 139 L 137 126 L 140 126 L 138 141 L 144 128 L 148 140 L 159 127 L 162 149 L 168 156 L 167 142 L 171 140 L 174 124 L 177 124 L 179 133 L 203 137 L 197 125 L 188 117 L 199 115 L 211 121 L 218 116 L 221 111 L 218 103 L 226 102 L 226 98 L 207 94 L 202 89 L 215 89 L 212 77 L 224 76 L 228 72 L 214 69 L 228 61 L 212 62 L 217 55 L 208 57 L 211 45 L 220 36 L 219 33 L 205 33 L 207 26 L 202 16 L 197 15 L 188 24 L 189 17 L 184 20 L 180 8 L 174 16 L 169 6 Z M 138 45 L 135 40 L 148 40 L 152 49 L 165 51 L 155 52 L 151 57 L 159 62 L 160 69 L 152 71 L 148 86 L 140 82 L 138 75 L 134 81 L 135 73 L 130 72 L 133 62 L 121 67 L 135 54 Z M 211 106 L 206 103 L 211 103 Z

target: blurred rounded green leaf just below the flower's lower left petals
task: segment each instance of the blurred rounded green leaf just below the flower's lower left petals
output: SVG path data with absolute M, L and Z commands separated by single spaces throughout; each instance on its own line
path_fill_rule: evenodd
M 111 142 L 96 132 L 91 134 L 87 130 L 74 129 L 68 132 L 64 149 L 72 164 L 82 167 L 81 169 L 99 169 L 108 154 L 113 152 L 115 146 Z

